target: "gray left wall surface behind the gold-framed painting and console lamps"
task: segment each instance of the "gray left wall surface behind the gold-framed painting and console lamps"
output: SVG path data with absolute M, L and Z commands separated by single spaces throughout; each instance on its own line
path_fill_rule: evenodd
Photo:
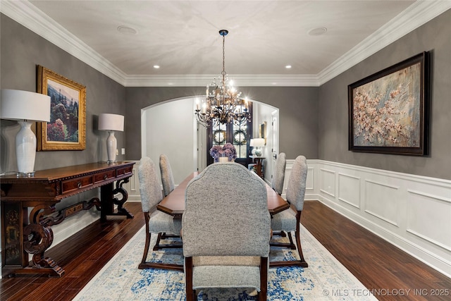
M 86 149 L 37 152 L 35 170 L 106 161 L 107 133 L 97 130 L 97 117 L 99 113 L 123 114 L 125 88 L 11 18 L 1 14 L 0 22 L 1 89 L 36 92 L 37 65 L 86 86 Z M 14 139 L 19 129 L 15 121 L 1 121 L 1 172 L 17 171 Z M 118 147 L 124 147 L 125 134 L 116 133 L 116 137 Z

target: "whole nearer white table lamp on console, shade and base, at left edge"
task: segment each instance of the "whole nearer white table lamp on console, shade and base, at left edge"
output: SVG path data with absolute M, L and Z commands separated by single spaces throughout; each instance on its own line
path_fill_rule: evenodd
M 20 124 L 16 135 L 17 176 L 34 176 L 36 135 L 31 125 L 35 121 L 50 121 L 50 97 L 35 92 L 2 89 L 0 118 Z

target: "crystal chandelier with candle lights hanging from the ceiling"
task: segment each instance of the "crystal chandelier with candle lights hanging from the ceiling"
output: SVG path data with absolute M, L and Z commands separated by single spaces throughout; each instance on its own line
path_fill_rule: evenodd
M 215 126 L 225 123 L 243 125 L 251 121 L 251 114 L 247 99 L 240 98 L 241 92 L 231 85 L 226 73 L 225 47 L 228 30 L 219 30 L 219 35 L 223 37 L 223 71 L 221 78 L 214 78 L 214 82 L 206 85 L 205 99 L 202 104 L 197 103 L 194 114 L 197 122 L 208 128 L 210 123 Z

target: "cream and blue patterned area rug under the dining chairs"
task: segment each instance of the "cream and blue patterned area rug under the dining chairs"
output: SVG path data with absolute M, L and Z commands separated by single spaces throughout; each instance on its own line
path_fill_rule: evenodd
M 155 238 L 156 235 L 153 236 Z M 273 239 L 288 241 L 288 238 L 280 236 Z M 144 250 L 144 240 L 145 228 L 142 228 L 74 300 L 185 300 L 183 272 L 137 269 Z M 268 300 L 377 300 L 302 225 L 301 243 L 309 267 L 270 268 Z M 297 253 L 292 250 L 271 247 L 270 261 L 292 260 L 296 257 Z M 183 250 L 151 251 L 147 260 L 182 264 Z M 250 290 L 217 289 L 200 291 L 198 300 L 245 301 L 257 300 L 257 297 Z

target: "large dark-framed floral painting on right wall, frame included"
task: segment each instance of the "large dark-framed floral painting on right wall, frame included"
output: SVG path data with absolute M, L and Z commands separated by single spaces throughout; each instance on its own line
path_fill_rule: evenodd
M 351 151 L 427 155 L 428 52 L 349 85 L 348 107 Z

